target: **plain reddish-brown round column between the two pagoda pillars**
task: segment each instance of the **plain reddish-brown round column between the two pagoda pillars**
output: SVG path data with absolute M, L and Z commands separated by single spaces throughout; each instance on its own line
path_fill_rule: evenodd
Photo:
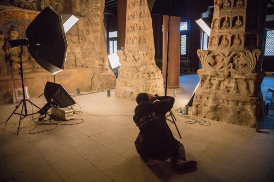
M 180 17 L 170 16 L 167 88 L 179 88 L 180 77 Z M 163 16 L 163 79 L 166 74 L 168 16 Z

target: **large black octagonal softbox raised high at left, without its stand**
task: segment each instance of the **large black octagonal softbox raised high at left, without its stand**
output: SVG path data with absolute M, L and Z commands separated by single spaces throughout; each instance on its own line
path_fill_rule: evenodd
M 51 74 L 63 71 L 67 40 L 63 21 L 51 6 L 40 12 L 26 29 L 28 51 Z

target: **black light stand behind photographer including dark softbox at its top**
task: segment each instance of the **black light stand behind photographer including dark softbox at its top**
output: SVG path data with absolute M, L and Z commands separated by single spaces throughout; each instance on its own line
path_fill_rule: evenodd
M 168 30 L 167 30 L 167 56 L 166 56 L 166 74 L 165 74 L 165 89 L 164 89 L 164 95 L 166 96 L 167 93 L 167 79 L 168 79 L 168 60 L 169 60 L 169 35 L 170 35 L 170 16 L 185 16 L 185 11 L 183 9 L 184 7 L 184 1 L 183 0 L 147 0 L 149 10 L 151 14 L 159 14 L 159 15 L 168 15 Z M 167 117 L 171 116 L 171 119 L 168 119 Z M 173 112 L 170 110 L 169 114 L 166 115 L 166 120 L 172 122 L 176 130 L 179 134 L 179 137 L 181 137 L 181 134 L 177 128 L 176 125 L 176 118 L 173 114 Z

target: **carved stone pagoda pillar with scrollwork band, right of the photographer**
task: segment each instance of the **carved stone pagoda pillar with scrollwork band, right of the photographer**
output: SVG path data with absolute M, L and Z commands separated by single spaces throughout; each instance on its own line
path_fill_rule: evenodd
M 263 119 L 259 42 L 265 0 L 215 0 L 208 50 L 198 50 L 202 69 L 193 114 L 255 127 Z

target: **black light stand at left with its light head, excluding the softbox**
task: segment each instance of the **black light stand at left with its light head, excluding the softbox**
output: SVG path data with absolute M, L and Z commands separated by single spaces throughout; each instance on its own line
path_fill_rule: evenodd
M 25 87 L 24 87 L 24 76 L 23 76 L 23 63 L 22 63 L 22 54 L 23 54 L 23 45 L 27 45 L 26 43 L 28 43 L 28 41 L 26 39 L 20 39 L 20 40 L 15 40 L 15 41 L 9 41 L 10 43 L 10 46 L 11 47 L 14 47 L 14 46 L 17 46 L 16 43 L 19 43 L 20 44 L 20 54 L 19 54 L 19 58 L 20 58 L 20 76 L 21 76 L 21 83 L 22 83 L 22 92 L 23 92 L 23 99 L 20 101 L 20 103 L 18 105 L 15 106 L 15 109 L 14 111 L 10 114 L 10 116 L 7 118 L 6 122 L 9 120 L 9 118 L 13 115 L 13 114 L 18 114 L 20 115 L 20 119 L 19 119 L 19 125 L 18 125 L 18 129 L 17 129 L 17 135 L 19 134 L 19 129 L 20 129 L 20 124 L 21 124 L 21 120 L 24 119 L 26 116 L 29 116 L 29 115 L 33 115 L 33 114 L 36 114 L 38 112 L 35 112 L 35 113 L 31 113 L 31 114 L 28 114 L 27 113 L 27 106 L 26 106 L 26 101 L 28 101 L 30 104 L 34 105 L 35 107 L 37 107 L 38 109 L 40 109 L 43 113 L 47 113 L 46 111 L 42 110 L 41 108 L 39 108 L 37 105 L 35 105 L 34 103 L 32 103 L 28 98 L 26 98 L 25 96 Z M 21 109 L 21 112 L 20 113 L 17 113 L 16 110 L 20 107 L 20 105 L 22 105 L 22 109 Z M 25 111 L 23 113 L 23 110 Z

